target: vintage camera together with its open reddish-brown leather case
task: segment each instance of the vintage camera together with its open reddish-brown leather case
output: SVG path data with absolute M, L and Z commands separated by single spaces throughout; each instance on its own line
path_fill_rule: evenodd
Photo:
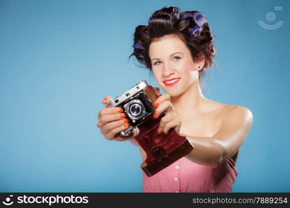
M 159 88 L 148 85 L 145 80 L 108 103 L 108 107 L 121 107 L 127 114 L 131 126 L 120 132 L 121 137 L 131 137 L 138 127 L 135 136 L 138 144 L 146 153 L 146 159 L 140 168 L 147 176 L 152 176 L 166 168 L 177 159 L 184 157 L 193 150 L 193 144 L 170 129 L 168 134 L 157 134 L 160 121 L 165 113 L 153 119 L 154 103 L 161 96 Z

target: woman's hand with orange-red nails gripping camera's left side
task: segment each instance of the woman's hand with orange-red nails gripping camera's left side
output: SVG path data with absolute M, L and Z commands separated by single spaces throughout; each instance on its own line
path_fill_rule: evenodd
M 112 98 L 110 96 L 106 96 L 102 103 L 107 105 L 111 100 Z M 126 114 L 123 113 L 120 107 L 104 107 L 99 111 L 97 117 L 97 127 L 100 128 L 102 135 L 108 140 L 127 141 L 128 139 L 134 139 L 138 134 L 138 130 L 134 130 L 132 137 L 123 138 L 117 135 L 130 125 L 129 120 L 126 119 Z

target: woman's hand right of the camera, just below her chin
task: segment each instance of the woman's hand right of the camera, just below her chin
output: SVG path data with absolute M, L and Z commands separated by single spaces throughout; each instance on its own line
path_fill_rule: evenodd
M 163 94 L 156 99 L 155 106 L 156 108 L 153 118 L 158 118 L 163 112 L 166 112 L 166 115 L 160 121 L 157 134 L 160 135 L 162 132 L 168 134 L 170 128 L 175 128 L 175 131 L 179 135 L 179 130 L 182 125 L 182 121 L 179 119 L 175 108 L 173 107 L 170 101 L 169 94 Z

